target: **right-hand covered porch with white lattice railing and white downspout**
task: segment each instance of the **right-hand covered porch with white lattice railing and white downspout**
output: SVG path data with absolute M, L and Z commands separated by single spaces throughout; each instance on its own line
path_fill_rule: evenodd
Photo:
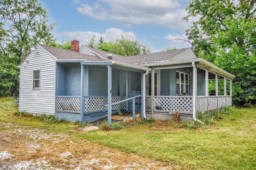
M 145 99 L 147 117 L 172 118 L 178 111 L 182 120 L 196 120 L 198 112 L 232 106 L 232 74 L 202 58 L 182 62 L 144 64 L 152 68 L 147 83 L 154 87 Z

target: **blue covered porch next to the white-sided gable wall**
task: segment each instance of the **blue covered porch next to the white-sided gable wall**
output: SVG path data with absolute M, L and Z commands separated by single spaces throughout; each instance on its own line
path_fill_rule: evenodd
M 56 118 L 92 122 L 108 116 L 110 124 L 118 110 L 142 111 L 146 70 L 150 68 L 112 60 L 58 60 Z

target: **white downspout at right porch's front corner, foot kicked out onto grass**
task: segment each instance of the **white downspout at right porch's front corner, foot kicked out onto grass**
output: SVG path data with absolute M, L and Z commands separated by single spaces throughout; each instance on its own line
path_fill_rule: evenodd
M 204 122 L 196 119 L 196 65 L 195 62 L 192 62 L 192 67 L 193 67 L 193 110 L 192 110 L 192 114 L 193 114 L 193 120 L 197 121 L 201 124 L 204 124 Z

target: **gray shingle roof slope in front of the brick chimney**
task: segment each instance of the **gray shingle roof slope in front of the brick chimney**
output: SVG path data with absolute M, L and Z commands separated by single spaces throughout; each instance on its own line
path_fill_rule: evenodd
M 42 48 L 44 48 L 46 51 L 48 51 L 50 54 L 52 54 L 52 56 L 54 56 L 55 58 L 57 58 L 59 60 L 62 60 L 62 59 L 66 59 L 66 60 L 72 60 L 72 59 L 100 60 L 100 58 L 98 58 L 96 56 L 81 54 L 79 52 L 64 50 L 61 48 L 46 46 L 43 44 L 38 44 L 38 45 L 41 46 Z

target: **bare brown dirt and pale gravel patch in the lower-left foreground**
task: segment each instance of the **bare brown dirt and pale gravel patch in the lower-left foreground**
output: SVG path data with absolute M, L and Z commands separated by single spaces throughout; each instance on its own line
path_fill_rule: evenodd
M 0 170 L 169 170 L 161 162 L 71 135 L 0 122 Z M 86 132 L 85 132 L 86 133 Z

